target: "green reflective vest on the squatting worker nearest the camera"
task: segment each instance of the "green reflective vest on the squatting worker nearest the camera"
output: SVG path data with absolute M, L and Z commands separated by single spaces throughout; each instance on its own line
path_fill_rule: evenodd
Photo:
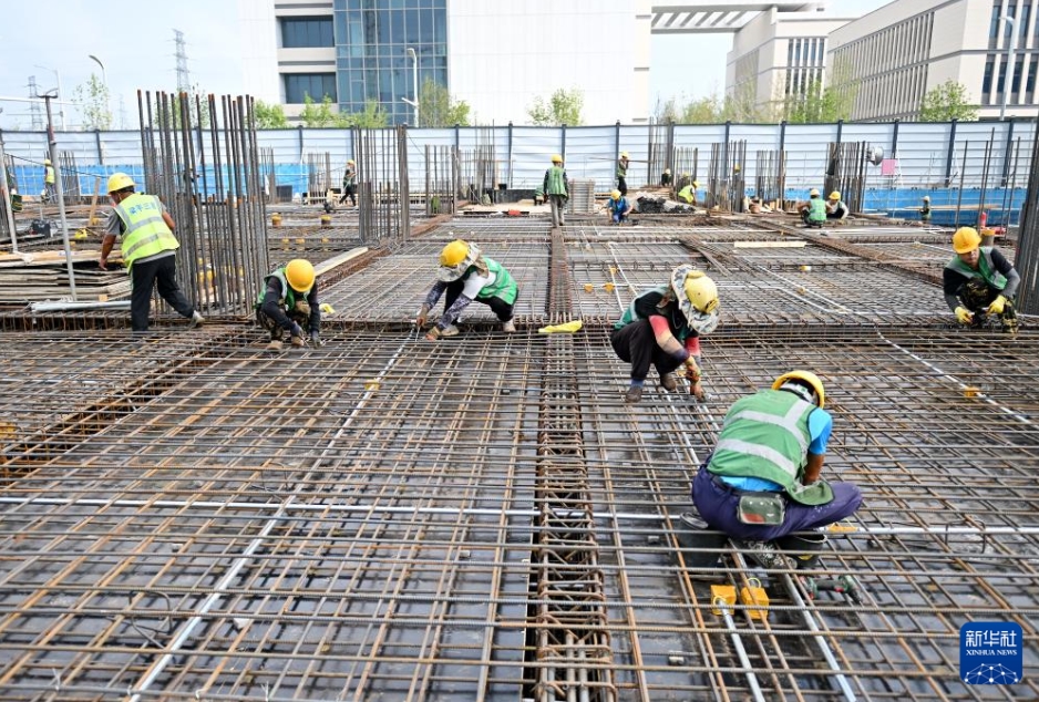
M 772 481 L 802 505 L 831 502 L 833 489 L 825 481 L 801 484 L 812 443 L 809 415 L 815 409 L 785 390 L 762 390 L 738 400 L 726 414 L 708 469 Z

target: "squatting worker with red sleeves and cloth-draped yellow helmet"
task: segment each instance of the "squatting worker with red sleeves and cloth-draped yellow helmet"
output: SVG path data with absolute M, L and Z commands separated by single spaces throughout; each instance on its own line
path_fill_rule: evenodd
M 609 342 L 617 357 L 631 364 L 631 381 L 625 402 L 642 399 L 650 364 L 660 385 L 678 390 L 672 374 L 681 368 L 697 400 L 704 399 L 701 384 L 700 335 L 718 326 L 718 287 L 701 270 L 686 264 L 671 271 L 670 283 L 652 288 L 631 300 L 614 323 Z

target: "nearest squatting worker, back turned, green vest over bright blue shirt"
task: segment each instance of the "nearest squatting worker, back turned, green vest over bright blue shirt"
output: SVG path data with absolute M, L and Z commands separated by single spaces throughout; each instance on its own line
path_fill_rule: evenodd
M 771 389 L 729 409 L 714 451 L 693 479 L 703 520 L 764 568 L 795 567 L 775 539 L 840 522 L 862 504 L 856 486 L 820 478 L 833 429 L 825 404 L 814 373 L 780 375 Z

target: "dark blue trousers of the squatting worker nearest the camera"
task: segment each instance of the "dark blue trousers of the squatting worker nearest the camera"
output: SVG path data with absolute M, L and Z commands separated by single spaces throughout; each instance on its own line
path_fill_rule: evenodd
M 720 478 L 716 481 L 706 467 L 700 468 L 692 482 L 692 500 L 697 505 L 697 510 L 711 528 L 735 538 L 753 541 L 772 541 L 791 531 L 807 531 L 840 522 L 855 514 L 862 505 L 862 492 L 857 487 L 851 483 L 831 483 L 833 499 L 825 505 L 810 507 L 784 496 L 786 514 L 783 524 L 775 526 L 743 524 L 737 516 L 742 493 L 734 487 L 719 485 L 720 482 Z

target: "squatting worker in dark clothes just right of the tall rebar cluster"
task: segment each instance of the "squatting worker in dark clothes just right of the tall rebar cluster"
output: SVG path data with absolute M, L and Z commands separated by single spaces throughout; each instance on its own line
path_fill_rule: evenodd
M 285 332 L 294 347 L 307 345 L 309 333 L 315 347 L 321 341 L 321 306 L 313 266 L 304 258 L 294 258 L 264 277 L 264 289 L 256 297 L 256 321 L 270 332 L 268 351 L 280 351 Z

